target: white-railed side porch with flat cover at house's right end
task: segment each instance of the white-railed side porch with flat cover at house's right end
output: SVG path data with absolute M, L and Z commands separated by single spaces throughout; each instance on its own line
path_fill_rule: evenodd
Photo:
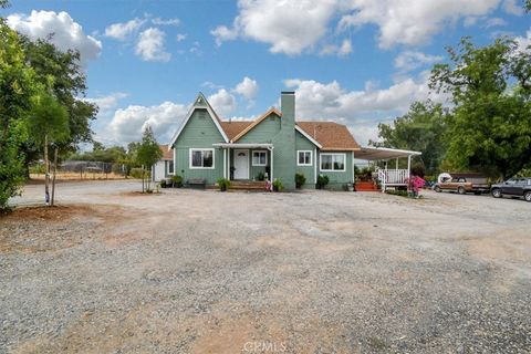
M 362 146 L 355 158 L 383 164 L 383 166 L 376 167 L 375 177 L 382 186 L 382 191 L 385 192 L 389 187 L 407 187 L 412 170 L 412 157 L 420 155 L 420 152 Z M 398 168 L 400 159 L 404 158 L 407 158 L 407 168 Z M 392 168 L 393 165 L 395 168 Z

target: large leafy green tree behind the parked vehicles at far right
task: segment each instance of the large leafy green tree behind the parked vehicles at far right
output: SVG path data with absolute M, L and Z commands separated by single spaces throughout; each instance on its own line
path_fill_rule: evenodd
M 447 162 L 506 178 L 531 162 L 531 62 L 499 39 L 476 48 L 464 38 L 448 49 L 452 64 L 434 66 L 430 87 L 451 94 Z

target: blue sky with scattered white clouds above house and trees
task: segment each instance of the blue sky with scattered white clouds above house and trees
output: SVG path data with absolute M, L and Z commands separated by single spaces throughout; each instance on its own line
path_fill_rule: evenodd
M 336 121 L 366 144 L 415 100 L 445 46 L 499 35 L 531 42 L 520 0 L 12 1 L 8 23 L 53 32 L 82 53 L 95 137 L 160 143 L 202 92 L 223 118 L 248 119 L 296 93 L 299 119 Z

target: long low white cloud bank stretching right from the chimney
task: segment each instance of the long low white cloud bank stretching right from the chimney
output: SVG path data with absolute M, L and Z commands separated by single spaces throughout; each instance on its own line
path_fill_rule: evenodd
M 347 91 L 337 81 L 290 79 L 284 84 L 295 91 L 298 119 L 333 119 L 348 126 L 360 143 L 366 144 L 376 137 L 379 122 L 404 114 L 413 102 L 445 102 L 446 96 L 429 92 L 428 77 L 429 73 L 423 72 L 385 88 L 369 83 L 358 91 Z

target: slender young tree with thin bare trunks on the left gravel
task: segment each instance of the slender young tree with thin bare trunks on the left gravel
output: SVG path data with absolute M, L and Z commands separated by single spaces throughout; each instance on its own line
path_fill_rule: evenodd
M 28 119 L 28 128 L 34 140 L 43 146 L 44 150 L 44 196 L 46 204 L 53 206 L 53 196 L 55 191 L 55 170 L 58 162 L 59 144 L 70 137 L 69 113 L 65 107 L 50 93 L 42 93 L 34 97 L 34 106 Z M 50 158 L 49 146 L 53 144 L 54 156 L 54 176 L 52 198 L 50 198 Z

